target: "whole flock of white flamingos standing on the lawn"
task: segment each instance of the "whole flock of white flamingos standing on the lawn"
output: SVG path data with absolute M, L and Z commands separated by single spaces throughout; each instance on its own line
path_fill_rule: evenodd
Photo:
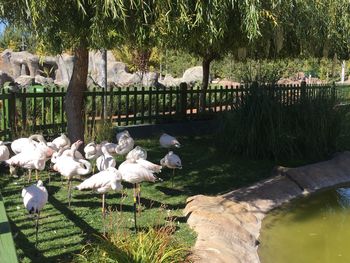
M 162 148 L 168 149 L 168 153 L 160 160 L 160 164 L 147 160 L 147 151 L 140 146 L 135 146 L 134 139 L 127 130 L 116 134 L 117 143 L 103 141 L 101 143 L 89 142 L 84 147 L 84 155 L 78 148 L 83 141 L 78 140 L 71 143 L 65 134 L 61 134 L 51 142 L 47 142 L 40 134 L 31 135 L 28 138 L 19 138 L 13 142 L 4 143 L 0 141 L 0 167 L 10 167 L 10 174 L 17 177 L 17 168 L 28 171 L 28 183 L 31 182 L 31 172 L 36 172 L 36 184 L 24 187 L 22 190 L 23 203 L 29 214 L 33 214 L 36 223 L 36 242 L 38 240 L 38 227 L 40 212 L 47 203 L 48 192 L 42 180 L 39 180 L 38 171 L 43 171 L 46 163 L 50 160 L 52 169 L 67 180 L 68 206 L 71 206 L 72 189 L 83 191 L 93 190 L 102 194 L 102 217 L 106 216 L 105 195 L 109 191 L 121 191 L 123 182 L 133 184 L 134 187 L 134 224 L 136 224 L 137 202 L 139 200 L 142 182 L 162 181 L 156 174 L 162 168 L 173 169 L 172 184 L 175 169 L 181 169 L 182 164 L 178 155 L 172 148 L 180 148 L 179 141 L 168 134 L 162 134 L 159 143 Z M 7 145 L 10 145 L 8 147 Z M 10 151 L 11 149 L 11 151 Z M 13 153 L 11 156 L 10 153 Z M 115 156 L 124 156 L 125 161 L 117 166 Z M 92 163 L 96 164 L 98 170 Z M 72 187 L 73 179 L 81 179 L 92 174 L 79 185 Z M 25 181 L 25 180 L 24 180 Z M 49 174 L 50 184 L 50 174 Z

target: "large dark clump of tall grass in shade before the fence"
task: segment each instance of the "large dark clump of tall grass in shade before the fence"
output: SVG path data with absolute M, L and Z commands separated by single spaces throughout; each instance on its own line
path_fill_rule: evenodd
M 243 105 L 224 115 L 219 140 L 251 158 L 320 159 L 337 150 L 346 111 L 322 89 L 290 106 L 269 89 L 251 87 Z M 350 145 L 349 145 L 350 146 Z

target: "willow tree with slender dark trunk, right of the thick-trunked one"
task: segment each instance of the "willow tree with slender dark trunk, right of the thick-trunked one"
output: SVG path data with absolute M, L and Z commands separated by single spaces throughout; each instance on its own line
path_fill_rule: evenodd
M 270 22 L 269 11 L 260 1 L 212 0 L 175 1 L 170 16 L 171 27 L 164 32 L 167 45 L 201 58 L 203 67 L 201 109 L 205 107 L 210 64 L 229 51 L 246 46 L 261 34 L 261 23 Z M 264 20 L 265 19 L 265 20 Z

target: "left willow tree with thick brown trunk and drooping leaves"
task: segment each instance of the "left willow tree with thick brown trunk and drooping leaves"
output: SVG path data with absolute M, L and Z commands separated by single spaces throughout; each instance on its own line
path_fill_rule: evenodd
M 73 53 L 73 73 L 65 97 L 68 135 L 72 141 L 84 138 L 83 95 L 87 88 L 89 50 L 117 44 L 128 18 L 126 11 L 143 2 L 147 1 L 0 0 L 1 17 L 26 25 L 34 32 L 41 51 Z M 147 14 L 147 10 L 143 12 Z

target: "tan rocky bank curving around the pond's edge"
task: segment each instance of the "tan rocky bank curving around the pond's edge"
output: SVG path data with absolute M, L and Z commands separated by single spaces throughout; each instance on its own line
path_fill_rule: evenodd
M 188 198 L 184 210 L 198 236 L 194 262 L 258 263 L 259 235 L 274 208 L 319 190 L 350 183 L 350 152 L 297 168 L 278 167 L 274 176 L 220 196 Z

